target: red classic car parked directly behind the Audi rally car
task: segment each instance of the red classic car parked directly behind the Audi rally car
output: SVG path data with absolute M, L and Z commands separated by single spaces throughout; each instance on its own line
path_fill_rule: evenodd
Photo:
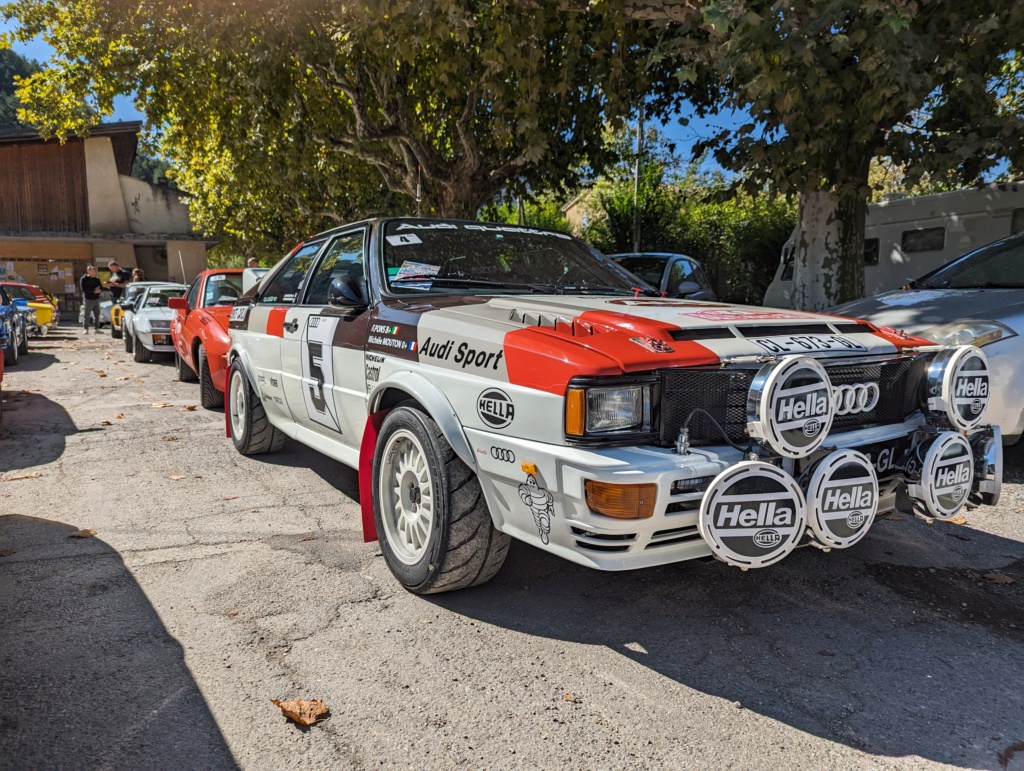
M 227 320 L 242 295 L 242 268 L 204 270 L 184 297 L 172 297 L 169 307 L 174 365 L 178 380 L 200 384 L 200 401 L 208 410 L 224 405 L 224 373 L 231 345 Z

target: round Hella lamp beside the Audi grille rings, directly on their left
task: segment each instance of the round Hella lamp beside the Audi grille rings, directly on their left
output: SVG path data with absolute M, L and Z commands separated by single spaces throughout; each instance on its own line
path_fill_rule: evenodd
M 765 365 L 746 394 L 746 429 L 786 458 L 805 458 L 828 435 L 836 397 L 824 368 L 809 356 Z

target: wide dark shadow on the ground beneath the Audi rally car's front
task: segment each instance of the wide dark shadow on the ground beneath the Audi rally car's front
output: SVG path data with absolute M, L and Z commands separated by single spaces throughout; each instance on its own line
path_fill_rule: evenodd
M 881 757 L 996 767 L 1024 740 L 1024 544 L 969 526 L 896 515 L 849 551 L 749 572 L 600 572 L 514 543 L 490 584 L 427 599 Z

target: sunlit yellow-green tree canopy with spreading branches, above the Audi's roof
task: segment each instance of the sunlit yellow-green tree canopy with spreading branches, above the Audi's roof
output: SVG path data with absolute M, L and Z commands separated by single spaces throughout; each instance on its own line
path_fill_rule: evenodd
M 603 164 L 601 127 L 642 94 L 652 40 L 605 4 L 12 0 L 2 12 L 56 52 L 22 88 L 34 123 L 82 130 L 76 100 L 109 115 L 134 90 L 194 195 L 196 147 L 245 177 L 271 156 L 317 174 L 341 155 L 393 194 L 422 191 L 425 213 L 473 216 L 502 190 Z

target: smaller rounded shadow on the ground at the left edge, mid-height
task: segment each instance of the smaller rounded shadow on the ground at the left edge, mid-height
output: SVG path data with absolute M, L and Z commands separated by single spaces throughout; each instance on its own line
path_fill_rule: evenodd
M 41 393 L 4 388 L 3 399 L 0 474 L 52 463 L 72 434 L 102 430 L 79 429 L 67 410 Z

